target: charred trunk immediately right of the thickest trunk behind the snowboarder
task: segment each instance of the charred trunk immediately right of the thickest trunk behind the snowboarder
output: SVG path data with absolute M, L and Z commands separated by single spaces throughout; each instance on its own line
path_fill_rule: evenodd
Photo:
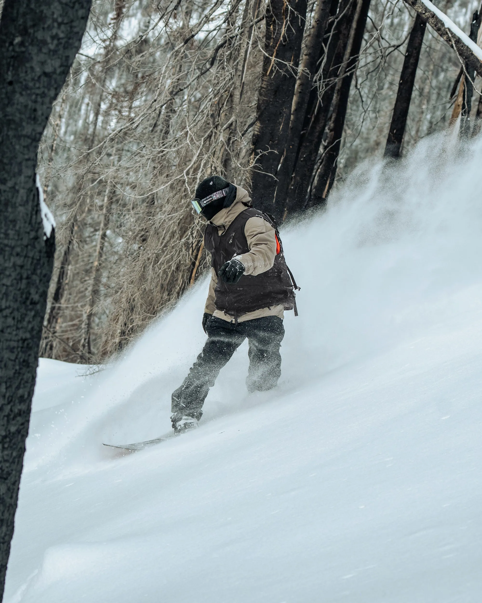
M 337 0 L 334 1 L 337 2 Z M 319 59 L 323 54 L 323 42 L 325 33 L 327 32 L 332 4 L 333 0 L 319 0 L 316 5 L 315 16 L 313 17 L 313 23 L 311 24 L 310 33 L 308 34 L 302 56 L 298 80 L 296 80 L 286 151 L 278 171 L 278 186 L 274 201 L 276 211 L 277 213 L 281 213 L 281 215 L 284 214 L 286 209 L 288 188 L 298 156 L 299 141 L 301 140 L 305 115 L 310 100 L 310 92 L 313 87 L 313 78 L 316 75 Z

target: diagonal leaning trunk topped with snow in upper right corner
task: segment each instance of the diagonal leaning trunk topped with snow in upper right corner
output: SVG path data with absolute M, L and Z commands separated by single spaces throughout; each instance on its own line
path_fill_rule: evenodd
M 457 52 L 482 77 L 482 50 L 475 42 L 451 21 L 445 13 L 433 5 L 430 0 L 404 0 L 405 4 L 415 8 L 439 36 Z

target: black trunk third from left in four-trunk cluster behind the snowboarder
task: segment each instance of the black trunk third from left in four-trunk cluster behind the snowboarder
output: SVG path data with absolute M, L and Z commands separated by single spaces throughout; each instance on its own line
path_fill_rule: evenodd
M 318 151 L 330 115 L 337 78 L 340 71 L 344 69 L 343 58 L 349 43 L 356 8 L 357 3 L 354 0 L 340 2 L 337 22 L 334 24 L 333 30 L 327 33 L 327 36 L 330 36 L 330 42 L 328 43 L 326 57 L 324 57 L 325 67 L 322 72 L 325 89 L 322 92 L 321 99 L 318 98 L 318 90 L 313 89 L 310 93 L 298 157 L 296 158 L 293 178 L 286 200 L 287 213 L 305 209 Z

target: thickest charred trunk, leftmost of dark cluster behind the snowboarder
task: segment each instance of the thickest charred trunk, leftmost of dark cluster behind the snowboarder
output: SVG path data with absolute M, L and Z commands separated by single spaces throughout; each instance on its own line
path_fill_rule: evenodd
M 256 207 L 274 213 L 277 172 L 283 157 L 296 84 L 307 0 L 271 0 L 266 8 L 263 75 L 252 140 Z

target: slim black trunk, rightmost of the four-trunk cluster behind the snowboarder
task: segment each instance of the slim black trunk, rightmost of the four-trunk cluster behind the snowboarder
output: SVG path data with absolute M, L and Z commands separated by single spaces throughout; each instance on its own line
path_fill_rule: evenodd
M 358 0 L 357 14 L 352 28 L 351 40 L 348 50 L 348 61 L 343 78 L 337 82 L 336 93 L 333 100 L 333 112 L 331 114 L 330 126 L 328 127 L 325 142 L 325 154 L 318 171 L 315 186 L 311 193 L 311 205 L 319 206 L 325 203 L 325 199 L 333 186 L 336 174 L 336 166 L 340 153 L 343 128 L 345 127 L 346 109 L 351 82 L 357 68 L 358 56 L 360 55 L 363 34 L 365 33 L 366 19 L 370 0 Z

